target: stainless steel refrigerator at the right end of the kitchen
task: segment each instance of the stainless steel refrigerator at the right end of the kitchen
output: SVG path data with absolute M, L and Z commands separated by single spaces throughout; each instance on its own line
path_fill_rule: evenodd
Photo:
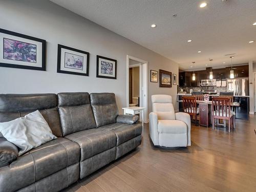
M 233 91 L 234 96 L 248 96 L 249 78 L 240 77 L 234 79 L 227 79 L 227 91 Z

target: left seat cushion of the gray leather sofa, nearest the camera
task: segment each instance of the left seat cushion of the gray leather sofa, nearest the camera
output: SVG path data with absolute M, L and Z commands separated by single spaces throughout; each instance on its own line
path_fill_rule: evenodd
M 18 157 L 9 166 L 0 168 L 0 188 L 5 186 L 11 191 L 23 188 L 79 162 L 79 159 L 77 143 L 57 138 Z M 15 181 L 15 185 L 10 181 Z

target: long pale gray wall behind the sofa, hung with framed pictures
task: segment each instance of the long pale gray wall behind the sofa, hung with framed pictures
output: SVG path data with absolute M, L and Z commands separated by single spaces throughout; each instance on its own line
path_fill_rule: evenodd
M 113 92 L 122 113 L 121 107 L 126 105 L 126 55 L 148 61 L 148 77 L 151 69 L 170 71 L 178 77 L 174 61 L 52 2 L 0 0 L 0 5 L 1 28 L 47 41 L 47 71 L 0 67 L 1 93 Z M 90 52 L 89 77 L 56 73 L 58 44 Z M 117 80 L 96 78 L 97 54 L 117 59 Z M 159 88 L 159 83 L 148 82 L 149 112 L 152 94 L 176 98 L 177 86 Z

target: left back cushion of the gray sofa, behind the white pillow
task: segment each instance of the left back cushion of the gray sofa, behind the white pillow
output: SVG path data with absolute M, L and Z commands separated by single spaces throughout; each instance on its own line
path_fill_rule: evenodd
M 53 135 L 62 137 L 56 94 L 0 94 L 0 122 L 24 117 L 36 110 L 45 118 Z

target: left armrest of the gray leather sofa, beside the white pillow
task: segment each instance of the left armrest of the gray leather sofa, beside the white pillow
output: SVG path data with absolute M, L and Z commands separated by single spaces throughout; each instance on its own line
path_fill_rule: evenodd
M 0 167 L 9 165 L 17 157 L 18 147 L 5 138 L 0 138 Z

